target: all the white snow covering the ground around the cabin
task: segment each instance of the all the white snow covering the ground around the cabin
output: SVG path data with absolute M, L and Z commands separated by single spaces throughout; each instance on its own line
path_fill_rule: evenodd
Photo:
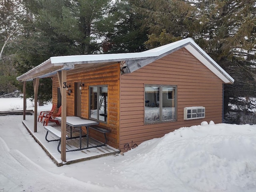
M 22 102 L 0 98 L 0 111 L 22 110 Z M 256 191 L 255 125 L 202 122 L 124 156 L 57 167 L 21 121 L 22 115 L 0 116 L 0 192 Z

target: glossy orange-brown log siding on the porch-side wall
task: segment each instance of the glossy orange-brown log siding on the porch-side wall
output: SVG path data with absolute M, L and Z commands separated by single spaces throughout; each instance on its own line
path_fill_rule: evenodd
M 94 85 L 108 85 L 108 120 L 107 124 L 100 122 L 101 125 L 107 127 L 110 133 L 107 133 L 108 145 L 119 147 L 119 90 L 120 90 L 120 66 L 118 63 L 97 68 L 91 71 L 80 73 L 71 73 L 67 71 L 67 85 L 70 85 L 72 93 L 67 95 L 67 116 L 74 116 L 75 114 L 75 97 L 74 86 L 75 82 L 84 83 L 82 88 L 82 117 L 89 118 L 89 86 Z M 58 78 L 53 77 L 53 103 L 57 104 L 57 87 Z M 104 142 L 104 136 L 101 133 L 90 131 L 90 135 Z

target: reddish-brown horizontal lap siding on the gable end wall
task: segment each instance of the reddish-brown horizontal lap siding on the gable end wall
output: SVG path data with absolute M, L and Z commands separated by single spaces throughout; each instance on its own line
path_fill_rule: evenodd
M 183 126 L 202 121 L 222 122 L 222 80 L 182 48 L 147 66 L 121 76 L 120 149 L 140 144 Z M 144 125 L 144 85 L 177 86 L 177 121 Z M 204 106 L 205 118 L 184 120 L 184 107 Z

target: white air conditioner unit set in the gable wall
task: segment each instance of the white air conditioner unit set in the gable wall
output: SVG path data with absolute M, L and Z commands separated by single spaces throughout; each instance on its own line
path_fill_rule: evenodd
M 205 107 L 185 107 L 184 120 L 200 119 L 205 117 Z

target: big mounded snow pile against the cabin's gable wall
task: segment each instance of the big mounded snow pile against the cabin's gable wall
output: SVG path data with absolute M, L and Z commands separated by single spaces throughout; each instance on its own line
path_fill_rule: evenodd
M 112 173 L 145 191 L 256 190 L 256 126 L 202 124 L 140 144 Z

